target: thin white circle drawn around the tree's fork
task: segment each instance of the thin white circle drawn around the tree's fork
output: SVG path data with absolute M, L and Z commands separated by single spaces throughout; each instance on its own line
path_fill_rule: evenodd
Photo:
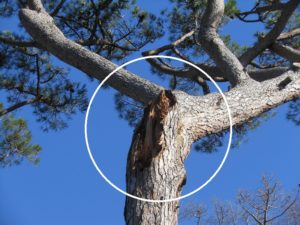
M 219 167 L 216 169 L 216 171 L 213 173 L 213 175 L 205 182 L 203 183 L 200 187 L 198 187 L 197 189 L 185 194 L 185 195 L 182 195 L 182 196 L 179 196 L 177 198 L 170 198 L 170 199 L 162 199 L 162 200 L 154 200 L 154 199 L 146 199 L 146 198 L 140 198 L 140 197 L 137 197 L 135 195 L 132 195 L 132 194 L 129 194 L 127 193 L 126 191 L 123 191 L 122 189 L 120 189 L 119 187 L 117 187 L 113 182 L 111 182 L 105 175 L 104 173 L 100 170 L 100 168 L 98 167 L 94 157 L 93 157 L 93 154 L 91 152 L 91 149 L 90 149 L 90 145 L 89 145 L 89 141 L 88 141 L 88 118 L 89 118 L 89 112 L 90 112 L 90 108 L 91 108 L 91 105 L 95 99 L 95 96 L 96 94 L 98 93 L 98 91 L 100 90 L 100 88 L 103 86 L 103 84 L 115 73 L 117 72 L 118 70 L 122 69 L 123 67 L 129 65 L 129 64 L 132 64 L 134 62 L 137 62 L 137 61 L 140 61 L 140 60 L 145 60 L 145 59 L 153 59 L 153 58 L 164 58 L 164 59 L 173 59 L 173 60 L 177 60 L 177 61 L 180 61 L 180 62 L 183 62 L 183 63 L 186 63 L 192 67 L 194 67 L 195 69 L 201 71 L 205 76 L 208 77 L 208 79 L 216 86 L 216 88 L 218 89 L 219 93 L 222 95 L 223 99 L 224 99 L 224 102 L 226 104 L 226 108 L 227 108 L 227 111 L 228 111 L 228 117 L 229 117 L 229 124 L 230 124 L 230 127 L 229 127 L 229 140 L 228 140 L 228 144 L 227 144 L 227 149 L 226 149 L 226 152 L 225 152 L 225 155 L 222 159 L 222 162 L 220 163 Z M 166 55 L 151 55 L 151 56 L 144 56 L 144 57 L 139 57 L 139 58 L 136 58 L 136 59 L 133 59 L 133 60 L 130 60 L 126 63 L 124 63 L 123 65 L 117 67 L 116 69 L 114 69 L 110 74 L 108 74 L 108 76 L 106 76 L 102 82 L 98 85 L 98 87 L 96 88 L 96 90 L 94 91 L 91 99 L 90 99 L 90 102 L 89 102 L 89 105 L 88 105 L 88 108 L 87 108 L 87 111 L 86 111 L 86 115 L 85 115 L 85 120 L 84 120 L 84 137 L 85 137 L 85 143 L 86 143 L 86 147 L 87 147 L 87 150 L 88 150 L 88 153 L 89 153 L 89 156 L 90 156 L 90 159 L 94 165 L 94 167 L 96 168 L 96 170 L 98 171 L 98 173 L 100 174 L 100 176 L 110 185 L 112 186 L 115 190 L 119 191 L 120 193 L 130 197 L 130 198 L 134 198 L 136 200 L 140 200 L 140 201 L 144 201 L 144 202 L 152 202 L 152 203 L 166 203 L 166 202 L 173 202 L 173 201 L 178 201 L 178 200 L 181 200 L 181 199 L 184 199 L 184 198 L 187 198 L 193 194 L 195 194 L 196 192 L 200 191 L 201 189 L 203 189 L 206 185 L 208 185 L 214 178 L 215 176 L 220 172 L 220 170 L 222 169 L 226 159 L 227 159 L 227 156 L 229 154 L 229 150 L 230 150 L 230 146 L 231 146 L 231 142 L 232 142 L 232 117 L 231 117 L 231 110 L 229 108 L 229 105 L 228 105 L 228 102 L 227 102 L 227 99 L 224 95 L 224 93 L 222 92 L 221 88 L 219 87 L 219 85 L 204 71 L 202 70 L 201 68 L 199 68 L 198 66 L 194 65 L 193 63 L 191 62 L 188 62 L 184 59 L 180 59 L 180 58 L 177 58 L 177 57 L 173 57 L 173 56 L 166 56 Z

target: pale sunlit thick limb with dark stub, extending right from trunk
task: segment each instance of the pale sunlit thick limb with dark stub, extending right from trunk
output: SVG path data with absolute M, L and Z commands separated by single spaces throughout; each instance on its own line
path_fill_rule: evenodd
M 228 129 L 226 105 L 220 94 L 182 98 L 188 111 L 186 123 L 194 140 Z M 300 70 L 290 70 L 280 77 L 264 82 L 249 82 L 225 93 L 233 125 L 242 124 L 280 104 L 300 98 Z M 179 100 L 178 100 L 179 101 Z

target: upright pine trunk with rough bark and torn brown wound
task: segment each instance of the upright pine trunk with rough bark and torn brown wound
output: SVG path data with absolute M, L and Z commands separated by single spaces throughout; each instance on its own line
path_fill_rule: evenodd
M 191 146 L 181 116 L 170 91 L 162 91 L 145 109 L 128 154 L 128 193 L 153 200 L 180 196 L 186 180 L 183 161 Z M 178 223 L 178 208 L 178 201 L 152 203 L 127 197 L 126 224 L 174 225 Z

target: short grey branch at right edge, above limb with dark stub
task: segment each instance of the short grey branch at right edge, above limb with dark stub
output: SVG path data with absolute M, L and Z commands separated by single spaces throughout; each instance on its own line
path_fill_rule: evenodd
M 270 50 L 291 62 L 300 62 L 300 51 L 277 42 L 271 45 Z

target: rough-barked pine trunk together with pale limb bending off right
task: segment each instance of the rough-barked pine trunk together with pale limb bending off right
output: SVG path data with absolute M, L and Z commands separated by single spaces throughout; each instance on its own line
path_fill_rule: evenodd
M 263 83 L 251 82 L 225 93 L 233 124 L 241 124 L 279 104 L 300 97 L 300 71 Z M 179 197 L 186 182 L 184 160 L 191 144 L 229 128 L 226 105 L 219 93 L 191 96 L 163 91 L 144 112 L 127 160 L 127 192 L 164 200 Z M 127 225 L 177 224 L 179 202 L 151 203 L 126 199 Z

